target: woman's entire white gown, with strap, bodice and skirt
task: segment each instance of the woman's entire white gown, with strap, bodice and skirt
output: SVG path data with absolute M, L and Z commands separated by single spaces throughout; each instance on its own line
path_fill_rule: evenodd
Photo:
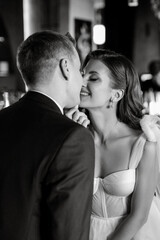
M 103 179 L 94 179 L 90 240 L 107 240 L 107 236 L 128 214 L 131 194 L 135 186 L 136 167 L 141 159 L 145 141 L 143 135 L 136 141 L 128 170 L 112 173 Z M 153 198 L 148 220 L 133 239 L 160 239 L 159 197 Z

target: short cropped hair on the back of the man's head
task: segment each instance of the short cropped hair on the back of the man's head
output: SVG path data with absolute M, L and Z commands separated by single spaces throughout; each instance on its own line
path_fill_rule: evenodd
M 60 59 L 73 58 L 75 42 L 69 33 L 37 32 L 21 43 L 17 51 L 17 67 L 27 85 L 34 85 L 53 72 Z

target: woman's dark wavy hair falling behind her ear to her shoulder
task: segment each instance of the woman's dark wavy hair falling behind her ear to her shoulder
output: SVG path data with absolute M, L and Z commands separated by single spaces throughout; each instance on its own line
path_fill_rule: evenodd
M 83 68 L 91 59 L 101 61 L 109 69 L 113 89 L 124 90 L 124 96 L 117 104 L 118 119 L 133 129 L 141 129 L 139 121 L 143 109 L 142 91 L 138 73 L 131 61 L 116 52 L 98 49 L 87 55 Z

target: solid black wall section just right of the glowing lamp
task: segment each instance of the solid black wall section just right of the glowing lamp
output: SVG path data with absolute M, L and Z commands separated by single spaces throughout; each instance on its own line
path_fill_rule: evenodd
M 105 47 L 123 53 L 130 59 L 133 59 L 136 11 L 137 7 L 128 7 L 127 1 L 106 0 Z

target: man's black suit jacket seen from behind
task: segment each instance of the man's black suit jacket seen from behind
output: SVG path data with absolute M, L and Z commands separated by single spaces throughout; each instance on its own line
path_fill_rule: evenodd
M 94 144 L 48 97 L 0 111 L 0 239 L 88 240 Z

